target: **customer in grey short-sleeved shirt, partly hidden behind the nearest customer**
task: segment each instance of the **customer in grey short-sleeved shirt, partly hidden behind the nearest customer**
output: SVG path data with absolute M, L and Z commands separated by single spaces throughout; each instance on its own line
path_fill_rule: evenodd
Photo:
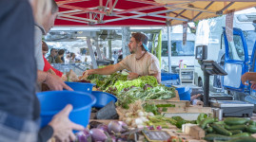
M 42 83 L 45 81 L 45 83 L 48 84 L 50 90 L 63 90 L 63 88 L 67 90 L 71 90 L 71 88 L 58 76 L 51 75 L 49 73 L 46 73 L 43 71 L 44 69 L 44 60 L 43 60 L 43 53 L 42 53 L 42 35 L 49 32 L 49 29 L 53 27 L 54 21 L 57 17 L 58 12 L 58 6 L 54 0 L 49 0 L 51 2 L 51 9 L 50 12 L 44 14 L 42 16 L 42 19 L 40 22 L 37 20 L 37 24 L 35 24 L 35 58 L 37 61 L 37 83 Z M 40 1 L 39 1 L 40 2 Z M 42 7 L 42 6 L 41 6 Z M 44 10 L 41 12 L 43 13 Z M 38 44 L 39 43 L 39 44 Z M 39 51 L 40 50 L 40 51 Z M 49 56 L 49 63 L 55 62 L 55 56 L 57 55 L 56 49 L 50 50 L 50 56 Z M 40 63 L 38 63 L 40 62 Z M 47 79 L 47 80 L 45 80 Z M 41 85 L 39 85 L 41 86 Z

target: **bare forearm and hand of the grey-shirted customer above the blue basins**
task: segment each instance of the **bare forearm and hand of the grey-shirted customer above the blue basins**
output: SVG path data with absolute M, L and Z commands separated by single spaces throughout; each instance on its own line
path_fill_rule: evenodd
M 67 89 L 72 91 L 72 89 L 60 77 L 41 70 L 37 70 L 37 81 L 48 84 L 50 90 Z

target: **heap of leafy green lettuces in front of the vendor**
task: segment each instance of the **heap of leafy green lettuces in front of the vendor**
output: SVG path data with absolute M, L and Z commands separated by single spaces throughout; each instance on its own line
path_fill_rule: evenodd
M 88 80 L 96 83 L 103 90 L 118 99 L 117 104 L 128 109 L 128 104 L 138 99 L 168 99 L 175 97 L 175 88 L 158 84 L 153 76 L 143 76 L 135 80 L 127 80 L 128 75 L 114 73 L 110 77 L 89 75 Z

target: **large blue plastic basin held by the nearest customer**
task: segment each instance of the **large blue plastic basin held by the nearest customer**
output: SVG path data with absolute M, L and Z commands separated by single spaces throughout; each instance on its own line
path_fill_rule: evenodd
M 69 119 L 87 127 L 91 106 L 96 99 L 89 93 L 76 91 L 48 91 L 37 93 L 41 105 L 41 128 L 46 126 L 53 115 L 59 113 L 67 104 L 73 106 Z

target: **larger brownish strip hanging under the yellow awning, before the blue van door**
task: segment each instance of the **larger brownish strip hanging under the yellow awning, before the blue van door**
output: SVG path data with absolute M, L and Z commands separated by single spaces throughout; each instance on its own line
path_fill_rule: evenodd
M 226 38 L 228 42 L 233 41 L 233 18 L 234 9 L 228 10 L 226 12 Z

